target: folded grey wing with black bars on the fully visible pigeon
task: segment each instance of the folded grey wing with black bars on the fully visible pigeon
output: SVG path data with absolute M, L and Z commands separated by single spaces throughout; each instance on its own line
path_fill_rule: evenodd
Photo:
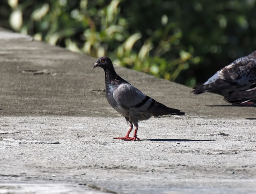
M 114 91 L 113 97 L 120 106 L 127 110 L 131 110 L 132 112 L 148 112 L 152 115 L 185 114 L 178 109 L 169 108 L 164 104 L 157 102 L 127 83 L 120 84 Z

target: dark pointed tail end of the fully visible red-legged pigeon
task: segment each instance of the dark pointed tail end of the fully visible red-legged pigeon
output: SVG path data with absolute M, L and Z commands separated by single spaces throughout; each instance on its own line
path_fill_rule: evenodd
M 172 114 L 172 115 L 184 115 L 186 114 L 185 112 L 181 112 L 178 109 L 175 108 L 169 108 L 165 106 L 164 104 L 161 104 L 160 102 L 155 102 L 155 105 L 152 106 L 148 112 L 153 114 L 154 116 L 158 115 L 165 115 L 165 114 Z

